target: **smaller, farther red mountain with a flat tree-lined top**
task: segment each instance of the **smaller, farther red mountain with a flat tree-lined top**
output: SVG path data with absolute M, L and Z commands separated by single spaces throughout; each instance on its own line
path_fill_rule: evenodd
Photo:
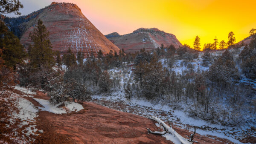
M 145 48 L 146 50 L 156 49 L 163 43 L 164 46 L 174 45 L 176 48 L 182 46 L 176 36 L 160 31 L 157 28 L 140 28 L 126 35 L 119 35 L 117 32 L 105 35 L 112 43 L 125 52 L 136 52 Z

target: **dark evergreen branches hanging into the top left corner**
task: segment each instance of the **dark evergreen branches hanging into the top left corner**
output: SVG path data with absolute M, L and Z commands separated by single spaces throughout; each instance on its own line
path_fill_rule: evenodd
M 20 0 L 0 0 L 0 13 L 8 14 L 14 12 L 20 15 L 19 9 L 23 8 Z

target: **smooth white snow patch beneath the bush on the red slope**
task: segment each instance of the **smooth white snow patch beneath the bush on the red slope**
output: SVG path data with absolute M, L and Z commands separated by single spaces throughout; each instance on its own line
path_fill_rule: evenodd
M 43 111 L 52 112 L 55 114 L 67 113 L 65 109 L 58 108 L 58 107 L 52 105 L 48 100 L 43 100 L 43 99 L 39 99 L 39 98 L 34 98 L 34 100 L 43 106 L 43 107 L 40 107 L 41 110 L 43 110 Z M 73 111 L 78 112 L 81 109 L 83 109 L 83 106 L 81 104 L 78 104 L 75 102 L 67 104 L 66 107 L 68 108 L 68 110 L 70 112 L 73 112 Z

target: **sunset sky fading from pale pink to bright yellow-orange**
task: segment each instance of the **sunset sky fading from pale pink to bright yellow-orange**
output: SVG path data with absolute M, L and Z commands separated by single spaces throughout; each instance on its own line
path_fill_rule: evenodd
M 20 12 L 29 14 L 52 1 L 76 3 L 104 35 L 157 28 L 190 46 L 198 35 L 203 47 L 215 37 L 227 42 L 231 31 L 239 42 L 256 29 L 256 0 L 20 0 Z

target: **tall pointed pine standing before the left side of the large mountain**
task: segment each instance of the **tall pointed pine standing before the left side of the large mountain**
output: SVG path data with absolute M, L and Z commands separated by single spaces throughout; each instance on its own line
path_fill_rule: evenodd
M 34 31 L 29 34 L 30 39 L 34 42 L 29 46 L 29 58 L 34 68 L 41 66 L 51 68 L 54 65 L 54 57 L 51 42 L 49 40 L 49 31 L 44 26 L 43 21 L 38 20 Z

